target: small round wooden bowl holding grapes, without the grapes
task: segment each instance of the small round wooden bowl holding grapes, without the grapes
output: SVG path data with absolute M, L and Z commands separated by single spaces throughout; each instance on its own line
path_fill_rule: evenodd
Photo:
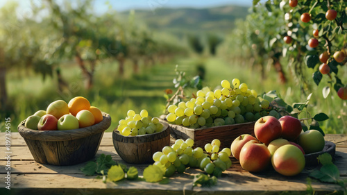
M 162 151 L 164 146 L 170 146 L 170 127 L 163 123 L 159 133 L 124 136 L 120 135 L 117 128 L 113 130 L 113 146 L 118 155 L 130 164 L 145 164 L 153 162 L 153 153 Z

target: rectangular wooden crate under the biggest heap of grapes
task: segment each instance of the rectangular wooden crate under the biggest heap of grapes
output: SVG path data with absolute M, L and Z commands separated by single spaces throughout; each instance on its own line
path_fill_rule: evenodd
M 255 121 L 196 129 L 174 124 L 169 124 L 169 126 L 171 127 L 171 136 L 175 139 L 194 139 L 194 147 L 201 147 L 202 149 L 205 144 L 211 143 L 213 139 L 219 139 L 221 141 L 220 148 L 223 149 L 230 148 L 232 141 L 239 135 L 251 134 L 255 136 L 254 124 Z

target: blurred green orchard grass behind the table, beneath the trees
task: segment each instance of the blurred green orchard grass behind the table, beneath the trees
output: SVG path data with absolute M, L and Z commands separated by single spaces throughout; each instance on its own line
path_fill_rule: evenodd
M 310 94 L 310 92 L 303 94 L 301 85 L 293 84 L 295 82 L 291 79 L 293 76 L 290 74 L 287 74 L 289 82 L 285 85 L 280 84 L 273 67 L 267 69 L 268 77 L 262 80 L 260 72 L 256 69 L 251 69 L 246 65 L 233 64 L 217 57 L 180 58 L 153 67 L 142 66 L 140 67 L 141 74 L 138 75 L 131 73 L 132 65 L 129 63 L 126 64 L 124 78 L 119 78 L 116 62 L 103 62 L 96 68 L 94 87 L 92 90 L 86 91 L 83 88 L 80 69 L 74 63 L 67 63 L 60 65 L 63 78 L 69 82 L 69 87 L 62 93 L 57 90 L 56 76 L 43 80 L 41 75 L 32 71 L 10 71 L 7 75 L 7 87 L 10 104 L 14 106 L 11 110 L 7 110 L 6 117 L 11 117 L 12 131 L 16 131 L 15 128 L 19 122 L 29 115 L 33 115 L 37 110 L 45 110 L 49 103 L 57 99 L 68 102 L 74 96 L 85 96 L 92 105 L 111 115 L 112 124 L 107 131 L 116 128 L 119 119 L 124 119 L 126 112 L 130 109 L 135 112 L 146 109 L 152 117 L 159 117 L 164 112 L 166 104 L 164 90 L 167 88 L 174 90 L 172 80 L 176 77 L 174 71 L 176 65 L 180 71 L 187 73 L 188 78 L 196 76 L 197 66 L 203 65 L 205 67 L 203 85 L 211 87 L 212 90 L 223 79 L 231 81 L 233 78 L 239 78 L 242 83 L 246 83 L 258 94 L 276 90 L 289 104 L 303 102 Z M 309 80 L 309 82 L 312 83 L 313 80 Z M 323 80 L 323 83 L 326 82 Z M 346 101 L 337 99 L 336 95 L 323 99 L 321 90 L 324 86 L 312 86 L 312 101 L 307 110 L 312 115 L 325 112 L 330 117 L 328 121 L 321 124 L 325 133 L 346 133 L 347 114 L 344 110 Z M 191 91 L 188 91 L 186 94 L 190 93 Z M 307 117 L 306 112 L 302 113 L 300 117 Z M 0 122 L 0 127 L 3 126 L 3 123 L 4 121 Z

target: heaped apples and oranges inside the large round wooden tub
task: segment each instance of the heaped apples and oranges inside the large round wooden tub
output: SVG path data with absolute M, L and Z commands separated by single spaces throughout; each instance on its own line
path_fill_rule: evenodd
M 83 104 L 74 105 L 76 99 Z M 24 126 L 33 130 L 71 130 L 98 124 L 103 120 L 99 108 L 90 106 L 82 96 L 76 96 L 66 103 L 63 100 L 53 101 L 46 110 L 38 110 L 26 119 Z

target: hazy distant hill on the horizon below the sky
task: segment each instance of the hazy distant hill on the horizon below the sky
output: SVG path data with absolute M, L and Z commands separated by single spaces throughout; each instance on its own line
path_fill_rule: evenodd
M 122 12 L 128 14 L 128 12 Z M 146 22 L 155 31 L 181 33 L 228 33 L 235 26 L 235 19 L 244 19 L 248 7 L 221 6 L 215 8 L 157 8 L 135 10 L 135 18 Z

